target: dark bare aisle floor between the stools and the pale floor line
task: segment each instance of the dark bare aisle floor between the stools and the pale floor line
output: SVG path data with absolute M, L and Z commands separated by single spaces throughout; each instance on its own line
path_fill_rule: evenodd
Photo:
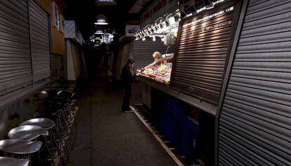
M 79 100 L 71 166 L 176 165 L 135 113 L 120 109 L 122 93 L 91 83 Z

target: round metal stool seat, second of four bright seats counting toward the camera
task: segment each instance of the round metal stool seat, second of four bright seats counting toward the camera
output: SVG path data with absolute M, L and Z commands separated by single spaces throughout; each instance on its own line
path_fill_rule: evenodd
M 22 125 L 8 132 L 8 137 L 10 139 L 32 140 L 41 135 L 48 135 L 48 130 L 37 125 Z

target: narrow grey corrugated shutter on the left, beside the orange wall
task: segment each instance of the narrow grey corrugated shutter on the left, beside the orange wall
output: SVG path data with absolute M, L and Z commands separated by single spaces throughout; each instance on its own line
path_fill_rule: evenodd
M 33 79 L 35 82 L 51 76 L 48 15 L 33 0 L 30 0 L 29 11 Z

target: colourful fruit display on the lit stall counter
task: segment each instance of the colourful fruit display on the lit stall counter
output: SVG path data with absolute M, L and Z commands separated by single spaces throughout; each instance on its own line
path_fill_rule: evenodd
M 138 73 L 138 76 L 145 76 L 147 78 L 152 78 L 153 80 L 157 82 L 169 85 L 171 71 L 172 71 L 172 63 L 160 64 L 160 65 L 156 64 L 153 67 L 148 67 L 147 69 L 144 69 L 143 71 Z

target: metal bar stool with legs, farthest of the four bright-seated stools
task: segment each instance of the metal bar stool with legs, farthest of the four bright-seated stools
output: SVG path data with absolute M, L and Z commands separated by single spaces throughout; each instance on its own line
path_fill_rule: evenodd
M 25 126 L 25 125 L 37 125 L 39 127 L 43 127 L 46 130 L 49 130 L 51 132 L 50 136 L 51 136 L 51 144 L 55 144 L 56 146 L 56 151 L 58 153 L 58 157 L 60 158 L 60 161 L 62 162 L 63 165 L 65 165 L 65 160 L 63 159 L 63 152 L 62 149 L 60 149 L 60 146 L 58 144 L 57 141 L 57 137 L 58 139 L 60 139 L 60 135 L 58 134 L 58 132 L 56 131 L 56 123 L 48 118 L 33 118 L 30 120 L 26 120 L 25 122 L 21 123 L 20 126 Z M 62 140 L 60 140 L 60 143 Z M 65 152 L 65 155 L 67 157 L 67 160 L 69 160 L 69 155 L 67 153 L 67 149 L 66 147 L 64 147 L 65 145 L 63 145 L 63 151 Z

